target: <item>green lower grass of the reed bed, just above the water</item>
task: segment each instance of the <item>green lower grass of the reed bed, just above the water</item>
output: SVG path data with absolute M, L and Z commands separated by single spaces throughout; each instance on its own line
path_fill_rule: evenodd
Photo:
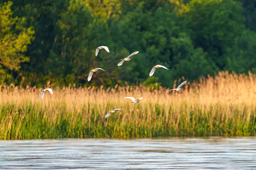
M 81 107 L 80 111 L 75 108 L 70 111 L 66 105 L 60 106 L 56 103 L 59 105 L 56 112 L 50 112 L 46 106 L 40 107 L 40 104 L 33 105 L 31 102 L 24 102 L 21 106 L 8 104 L 0 110 L 0 138 L 255 136 L 255 111 L 247 115 L 246 109 L 240 112 L 236 106 L 213 105 L 212 110 L 231 109 L 232 116 L 202 111 L 200 107 L 193 110 L 189 108 L 189 111 L 184 107 L 179 115 L 176 115 L 171 107 L 166 113 L 165 106 L 152 104 L 148 108 L 142 108 L 139 104 L 143 103 L 138 103 L 138 106 L 128 113 L 132 116 L 127 116 L 126 111 L 123 111 L 112 113 L 108 118 L 105 118 L 99 109 L 91 109 L 89 114 L 84 113 L 88 105 Z M 97 107 L 97 104 L 93 106 Z M 108 110 L 114 108 L 110 107 Z M 128 104 L 126 107 L 129 107 Z

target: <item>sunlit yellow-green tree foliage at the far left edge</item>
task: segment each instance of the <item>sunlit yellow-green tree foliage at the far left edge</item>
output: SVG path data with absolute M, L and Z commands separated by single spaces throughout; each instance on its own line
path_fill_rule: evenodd
M 26 18 L 13 17 L 12 2 L 0 5 L 0 79 L 10 80 L 10 71 L 20 69 L 20 63 L 28 62 L 24 55 L 33 40 L 32 27 L 25 28 Z

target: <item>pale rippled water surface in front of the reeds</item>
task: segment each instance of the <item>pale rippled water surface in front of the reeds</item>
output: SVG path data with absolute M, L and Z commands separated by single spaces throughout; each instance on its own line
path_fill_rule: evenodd
M 1 140 L 0 169 L 256 169 L 256 138 Z

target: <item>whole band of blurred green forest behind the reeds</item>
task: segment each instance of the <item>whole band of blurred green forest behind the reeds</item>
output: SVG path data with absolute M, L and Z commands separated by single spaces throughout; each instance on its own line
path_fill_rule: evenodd
M 172 87 L 182 76 L 256 73 L 256 0 L 0 0 L 0 9 L 1 84 Z M 110 53 L 96 57 L 99 46 Z M 170 71 L 149 77 L 156 64 Z M 88 82 L 93 68 L 107 71 Z

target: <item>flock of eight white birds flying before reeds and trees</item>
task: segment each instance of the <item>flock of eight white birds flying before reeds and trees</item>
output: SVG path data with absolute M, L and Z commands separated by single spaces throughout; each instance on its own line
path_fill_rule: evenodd
M 98 48 L 96 49 L 96 53 L 95 53 L 96 56 L 98 55 L 98 53 L 99 53 L 99 51 L 100 51 L 101 49 L 105 49 L 105 50 L 109 53 L 109 48 L 108 48 L 107 46 L 100 46 L 100 47 L 98 47 Z M 138 54 L 138 53 L 139 53 L 138 51 L 133 52 L 133 53 L 132 53 L 131 55 L 129 55 L 128 57 L 126 57 L 126 58 L 124 58 L 124 59 L 121 59 L 122 61 L 121 61 L 120 63 L 118 63 L 117 65 L 118 65 L 118 66 L 121 66 L 125 61 L 130 61 L 130 60 L 131 60 L 130 57 L 132 57 L 132 56 L 134 56 L 135 54 Z M 156 68 L 164 68 L 164 69 L 166 69 L 166 70 L 169 70 L 169 69 L 167 69 L 167 68 L 164 67 L 164 66 L 156 65 L 156 66 L 152 67 L 152 70 L 151 70 L 150 73 L 149 73 L 149 76 L 150 76 L 150 77 L 154 74 Z M 94 72 L 97 72 L 98 70 L 103 70 L 103 69 L 102 69 L 102 68 L 96 68 L 96 69 L 91 70 L 87 80 L 90 81 L 90 80 L 92 79 L 92 76 L 93 76 Z M 103 70 L 103 71 L 106 71 L 106 70 Z M 176 89 L 170 89 L 169 91 L 171 91 L 171 90 L 181 91 L 181 90 L 182 90 L 181 87 L 182 87 L 186 82 L 187 82 L 187 81 L 184 81 L 184 82 L 181 83 Z M 49 91 L 51 94 L 53 94 L 53 93 L 52 93 L 52 89 L 50 89 L 50 88 L 44 89 L 44 90 L 41 91 L 41 98 L 42 98 L 42 99 L 44 98 L 44 93 L 45 93 L 46 91 Z M 132 103 L 138 103 L 138 102 L 140 101 L 140 99 L 143 99 L 143 97 L 138 98 L 138 99 L 135 99 L 134 97 L 125 97 L 125 98 L 131 99 L 131 100 L 132 100 Z M 117 112 L 117 111 L 119 111 L 119 110 L 122 110 L 122 109 L 114 109 L 114 110 L 111 110 L 111 111 L 109 111 L 109 112 L 106 114 L 105 117 L 108 117 L 109 115 L 111 115 L 111 113 L 115 113 L 115 112 Z

